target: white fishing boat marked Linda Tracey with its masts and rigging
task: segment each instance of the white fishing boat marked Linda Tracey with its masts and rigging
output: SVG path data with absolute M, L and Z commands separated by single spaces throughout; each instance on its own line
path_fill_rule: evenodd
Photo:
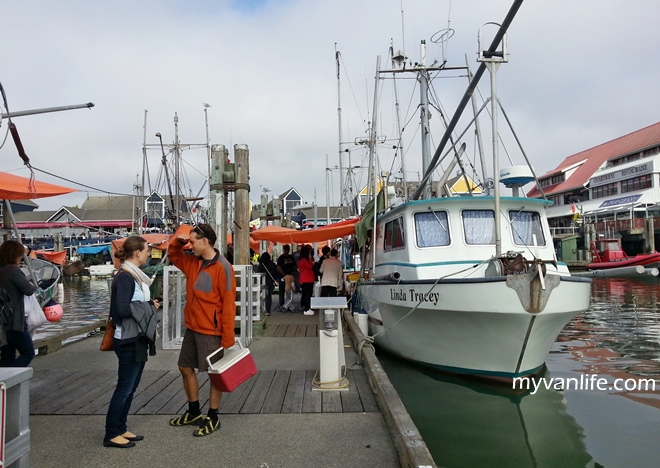
M 481 109 L 490 102 L 492 135 L 499 135 L 495 76 L 507 61 L 504 33 L 512 18 L 507 15 L 488 50 L 479 46 L 480 68 L 433 158 L 424 154 L 428 142 L 422 142 L 419 187 L 409 199 L 386 187 L 365 209 L 363 226 L 356 226 L 358 234 L 369 231 L 357 303 L 368 314 L 373 341 L 418 364 L 504 380 L 542 370 L 562 328 L 588 308 L 591 283 L 572 277 L 557 261 L 545 212 L 551 202 L 519 195 L 536 179 L 533 169 L 529 164 L 500 169 L 498 138 L 493 138 L 492 183 L 464 196 L 445 190 L 448 172 L 460 164 L 465 149 L 465 143 L 459 149 L 460 138 L 452 132 L 485 68 L 491 97 Z M 420 61 L 406 71 L 416 72 L 424 89 L 429 69 L 422 44 Z M 421 95 L 422 127 L 428 128 L 424 91 Z M 432 191 L 429 179 L 450 139 L 447 154 L 455 161 Z M 501 196 L 500 183 L 511 196 Z M 374 182 L 374 194 L 375 188 Z M 371 219 L 370 210 L 375 212 Z

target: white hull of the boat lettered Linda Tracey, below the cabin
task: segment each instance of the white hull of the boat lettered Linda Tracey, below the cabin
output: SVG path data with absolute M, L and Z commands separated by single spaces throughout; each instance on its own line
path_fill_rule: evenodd
M 590 283 L 562 279 L 537 314 L 523 309 L 503 277 L 435 286 L 364 282 L 358 294 L 370 333 L 391 327 L 376 337 L 389 352 L 451 372 L 513 378 L 543 366 L 560 331 L 587 309 Z

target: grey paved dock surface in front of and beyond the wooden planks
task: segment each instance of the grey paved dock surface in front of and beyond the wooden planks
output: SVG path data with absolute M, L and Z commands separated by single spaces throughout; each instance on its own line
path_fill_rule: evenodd
M 276 303 L 276 296 L 273 297 Z M 305 325 L 317 323 L 318 317 L 301 313 L 273 312 L 269 326 Z M 45 408 L 48 391 L 39 385 L 47 374 L 64 377 L 64 372 L 84 375 L 80 387 L 69 384 L 68 392 L 82 393 L 93 388 L 85 380 L 116 371 L 114 353 L 98 350 L 100 336 L 86 338 L 65 346 L 62 350 L 33 361 L 35 395 L 42 394 L 39 408 Z M 350 340 L 345 339 L 345 343 Z M 319 366 L 318 338 L 313 336 L 260 336 L 250 345 L 257 368 L 265 374 L 291 371 L 298 374 Z M 158 350 L 149 358 L 145 372 L 177 369 L 178 351 Z M 355 365 L 356 355 L 346 349 L 346 364 L 353 373 L 362 369 Z M 84 374 L 79 374 L 84 373 Z M 41 376 L 41 377 L 40 377 Z M 180 381 L 173 378 L 172 382 Z M 351 386 L 356 386 L 351 382 Z M 38 388 L 40 387 L 40 388 Z M 174 388 L 174 386 L 172 386 Z M 53 390 L 54 394 L 55 390 Z M 316 393 L 316 392 L 315 392 Z M 226 395 L 227 396 L 227 395 Z M 185 396 L 181 405 L 185 405 Z M 44 400 L 44 398 L 46 398 Z M 55 396 L 53 396 L 53 399 Z M 63 398 L 69 405 L 75 398 Z M 66 401 L 66 403 L 65 403 Z M 228 400 L 227 400 L 228 401 Z M 35 404 L 38 402 L 35 402 Z M 176 405 L 174 405 L 176 406 Z M 397 454 L 380 412 L 291 412 L 222 414 L 222 428 L 207 437 L 192 436 L 188 427 L 170 427 L 167 414 L 134 414 L 129 416 L 129 429 L 145 436 L 131 449 L 110 449 L 102 446 L 104 420 L 102 414 L 32 414 L 30 416 L 33 468 L 56 467 L 398 467 Z M 72 413 L 72 411 L 65 411 Z

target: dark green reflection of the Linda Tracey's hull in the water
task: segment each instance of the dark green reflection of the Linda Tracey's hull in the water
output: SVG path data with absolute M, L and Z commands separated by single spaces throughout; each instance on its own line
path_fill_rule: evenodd
M 560 392 L 513 392 L 379 358 L 438 466 L 597 466 Z

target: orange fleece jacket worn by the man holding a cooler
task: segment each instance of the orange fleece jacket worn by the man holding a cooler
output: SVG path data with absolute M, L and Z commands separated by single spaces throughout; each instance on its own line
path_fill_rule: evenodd
M 202 259 L 183 253 L 183 246 L 178 241 L 170 244 L 167 255 L 186 275 L 186 307 L 183 311 L 186 328 L 203 335 L 222 336 L 223 348 L 233 346 L 236 325 L 234 268 L 222 255 L 202 268 Z

